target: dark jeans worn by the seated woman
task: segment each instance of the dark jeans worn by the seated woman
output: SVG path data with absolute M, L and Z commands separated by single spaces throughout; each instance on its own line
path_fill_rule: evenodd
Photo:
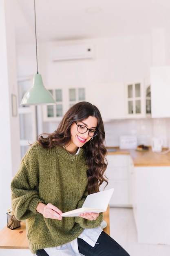
M 100 234 L 95 247 L 78 238 L 79 252 L 85 256 L 130 256 L 113 238 L 104 231 Z M 38 256 L 48 256 L 44 249 L 38 250 Z

